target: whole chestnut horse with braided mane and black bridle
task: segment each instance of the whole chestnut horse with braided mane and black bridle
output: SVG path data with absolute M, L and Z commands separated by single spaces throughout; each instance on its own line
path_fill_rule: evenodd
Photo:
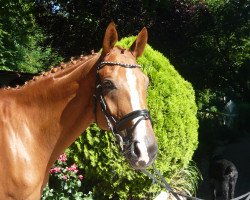
M 100 54 L 0 90 L 0 199 L 39 199 L 53 163 L 93 122 L 114 133 L 131 167 L 153 162 L 158 147 L 146 105 L 149 80 L 136 63 L 147 30 L 129 50 L 115 46 L 117 40 L 110 23 Z

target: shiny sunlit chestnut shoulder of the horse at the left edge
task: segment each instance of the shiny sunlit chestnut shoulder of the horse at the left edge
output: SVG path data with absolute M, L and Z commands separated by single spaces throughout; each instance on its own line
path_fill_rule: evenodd
M 41 177 L 15 98 L 0 99 L 0 199 L 39 199 Z M 21 130 L 22 129 L 22 130 Z M 27 127 L 26 127 L 27 129 Z M 29 130 L 25 130 L 26 133 Z M 35 149 L 33 149 L 35 151 Z M 37 196 L 37 198 L 34 198 Z

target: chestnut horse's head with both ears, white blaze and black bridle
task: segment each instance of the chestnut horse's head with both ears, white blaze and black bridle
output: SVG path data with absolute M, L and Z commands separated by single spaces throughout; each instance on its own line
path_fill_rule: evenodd
M 136 62 L 147 38 L 147 29 L 143 28 L 128 50 L 115 46 L 118 34 L 110 23 L 96 76 L 96 122 L 114 133 L 123 155 L 135 169 L 152 164 L 158 149 L 147 110 L 149 79 Z

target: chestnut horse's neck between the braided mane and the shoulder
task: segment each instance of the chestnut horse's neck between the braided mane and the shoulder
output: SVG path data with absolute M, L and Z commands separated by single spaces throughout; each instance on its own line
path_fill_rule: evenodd
M 22 89 L 21 107 L 32 105 L 26 111 L 30 112 L 27 121 L 50 156 L 49 166 L 94 121 L 94 66 L 98 59 L 96 55 L 85 63 L 73 62 Z

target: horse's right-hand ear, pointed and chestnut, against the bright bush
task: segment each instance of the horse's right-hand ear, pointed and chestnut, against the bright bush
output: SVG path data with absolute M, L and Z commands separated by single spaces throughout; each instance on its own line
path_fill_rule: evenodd
M 142 55 L 147 42 L 148 42 L 148 31 L 146 27 L 144 27 L 138 34 L 136 40 L 131 45 L 129 50 L 133 53 L 135 57 L 139 57 Z

